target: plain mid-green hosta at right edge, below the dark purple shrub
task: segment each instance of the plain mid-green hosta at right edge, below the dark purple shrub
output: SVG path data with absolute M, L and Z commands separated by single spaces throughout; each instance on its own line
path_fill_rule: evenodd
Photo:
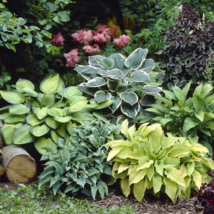
M 161 123 L 167 132 L 186 137 L 191 142 L 200 142 L 212 149 L 214 136 L 214 95 L 213 86 L 201 84 L 192 93 L 191 83 L 181 90 L 177 86 L 172 91 L 163 90 L 164 96 L 158 97 L 156 103 L 146 111 L 152 113 L 148 120 Z M 146 114 L 138 119 L 145 122 Z M 206 138 L 208 136 L 208 138 Z

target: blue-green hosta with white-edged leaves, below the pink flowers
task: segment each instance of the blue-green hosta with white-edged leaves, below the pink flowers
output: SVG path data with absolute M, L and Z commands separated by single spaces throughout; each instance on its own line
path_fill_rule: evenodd
M 146 59 L 147 53 L 148 49 L 138 48 L 128 58 L 119 53 L 90 56 L 89 65 L 74 69 L 88 81 L 79 85 L 80 90 L 94 97 L 92 104 L 108 106 L 112 113 L 120 108 L 124 115 L 135 118 L 161 92 L 160 87 L 149 84 L 155 63 Z

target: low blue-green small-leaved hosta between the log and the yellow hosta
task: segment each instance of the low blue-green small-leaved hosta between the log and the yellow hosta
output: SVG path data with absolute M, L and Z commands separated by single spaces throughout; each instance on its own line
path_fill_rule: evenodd
M 103 198 L 108 194 L 103 178 L 112 175 L 105 143 L 107 139 L 119 139 L 119 134 L 119 127 L 100 120 L 85 121 L 73 128 L 70 144 L 60 139 L 57 150 L 42 157 L 49 161 L 39 176 L 39 186 L 46 184 L 56 194 L 64 184 L 65 193 L 81 192 L 94 199 L 99 194 Z

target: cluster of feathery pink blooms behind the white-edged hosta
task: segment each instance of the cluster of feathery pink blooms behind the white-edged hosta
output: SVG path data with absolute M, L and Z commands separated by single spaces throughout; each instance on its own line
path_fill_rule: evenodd
M 72 49 L 69 53 L 64 53 L 64 57 L 67 60 L 66 66 L 74 67 L 75 64 L 79 63 L 79 55 L 81 55 L 81 60 L 85 60 L 87 55 L 96 55 L 100 52 L 102 55 L 105 50 L 111 53 L 115 49 L 121 50 L 126 46 L 130 37 L 123 34 L 119 38 L 115 38 L 118 29 L 119 26 L 113 25 L 111 28 L 108 28 L 106 25 L 98 24 L 97 30 L 82 29 L 71 34 L 72 41 L 79 46 L 79 49 Z M 114 43 L 112 43 L 113 39 Z M 56 46 L 61 46 L 63 45 L 64 38 L 61 33 L 58 33 L 52 36 L 51 42 Z

